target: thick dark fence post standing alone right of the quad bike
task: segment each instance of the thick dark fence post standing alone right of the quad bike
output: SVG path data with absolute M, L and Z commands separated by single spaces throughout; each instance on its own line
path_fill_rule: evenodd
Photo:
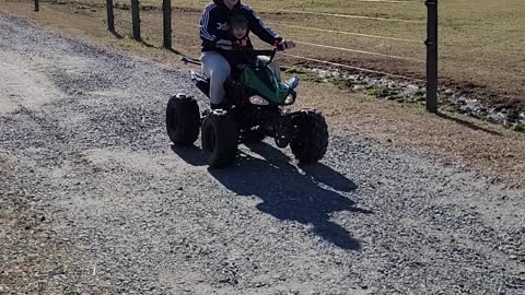
M 427 0 L 427 110 L 438 113 L 438 0 Z

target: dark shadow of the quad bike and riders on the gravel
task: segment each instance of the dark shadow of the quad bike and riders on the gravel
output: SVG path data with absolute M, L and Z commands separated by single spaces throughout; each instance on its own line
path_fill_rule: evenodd
M 211 176 L 237 194 L 260 198 L 262 203 L 257 209 L 265 213 L 282 221 L 312 225 L 315 235 L 340 248 L 361 248 L 359 240 L 352 238 L 345 227 L 330 221 L 330 213 L 373 212 L 357 208 L 349 198 L 319 184 L 350 192 L 357 188 L 350 179 L 320 163 L 301 166 L 301 172 L 285 154 L 266 143 L 253 144 L 248 149 L 265 160 L 241 154 L 235 167 L 209 169 Z

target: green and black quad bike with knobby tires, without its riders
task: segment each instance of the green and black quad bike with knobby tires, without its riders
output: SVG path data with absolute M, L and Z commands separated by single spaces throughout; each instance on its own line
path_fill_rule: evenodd
M 319 161 L 328 145 L 325 118 L 316 110 L 290 111 L 284 106 L 295 102 L 298 78 L 280 81 L 280 73 L 270 67 L 278 48 L 254 50 L 258 60 L 224 82 L 225 106 L 223 109 L 199 113 L 195 98 L 183 94 L 170 98 L 166 108 L 166 130 L 175 145 L 191 145 L 201 130 L 202 149 L 209 153 L 208 163 L 213 168 L 231 165 L 237 154 L 238 143 L 257 142 L 273 138 L 283 149 L 290 144 L 300 163 Z M 200 64 L 196 60 L 183 61 Z M 277 69 L 278 71 L 278 69 Z M 210 81 L 190 71 L 197 87 L 209 96 Z

